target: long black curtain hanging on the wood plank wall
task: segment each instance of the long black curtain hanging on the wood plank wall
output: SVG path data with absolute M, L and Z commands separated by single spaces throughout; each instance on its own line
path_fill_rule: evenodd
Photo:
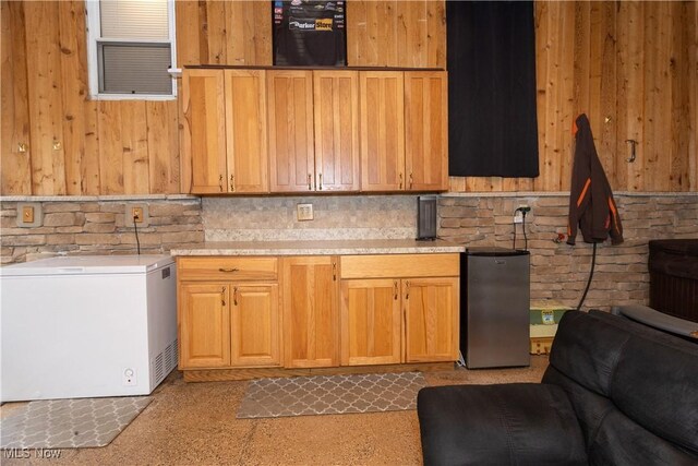
M 532 1 L 447 1 L 448 172 L 538 177 Z

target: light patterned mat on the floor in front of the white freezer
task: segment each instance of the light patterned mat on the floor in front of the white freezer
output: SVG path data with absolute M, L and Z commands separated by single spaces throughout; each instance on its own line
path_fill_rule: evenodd
M 105 446 L 149 403 L 147 396 L 31 402 L 0 421 L 0 447 Z

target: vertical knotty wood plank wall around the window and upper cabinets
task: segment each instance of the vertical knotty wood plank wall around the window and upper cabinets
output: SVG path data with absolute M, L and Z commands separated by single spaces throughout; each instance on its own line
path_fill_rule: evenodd
M 1 194 L 186 191 L 179 100 L 88 99 L 82 0 L 2 0 L 0 16 Z M 350 65 L 446 65 L 443 1 L 349 0 L 347 19 Z M 614 189 L 698 191 L 698 2 L 539 1 L 535 27 L 541 176 L 450 190 L 568 189 L 583 111 Z M 178 1 L 177 36 L 180 67 L 269 65 L 270 2 Z

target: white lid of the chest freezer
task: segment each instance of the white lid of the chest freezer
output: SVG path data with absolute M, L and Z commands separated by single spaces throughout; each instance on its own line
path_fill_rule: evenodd
M 170 255 L 64 255 L 0 267 L 0 276 L 134 274 L 174 262 Z

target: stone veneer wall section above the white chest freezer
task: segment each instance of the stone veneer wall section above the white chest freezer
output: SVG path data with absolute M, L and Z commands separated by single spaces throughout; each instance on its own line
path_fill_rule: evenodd
M 41 226 L 17 227 L 17 204 L 41 204 Z M 142 254 L 201 244 L 201 200 L 191 196 L 2 198 L 2 264 L 59 254 L 135 254 L 133 227 L 124 223 L 127 204 L 146 204 L 148 225 L 139 228 Z

